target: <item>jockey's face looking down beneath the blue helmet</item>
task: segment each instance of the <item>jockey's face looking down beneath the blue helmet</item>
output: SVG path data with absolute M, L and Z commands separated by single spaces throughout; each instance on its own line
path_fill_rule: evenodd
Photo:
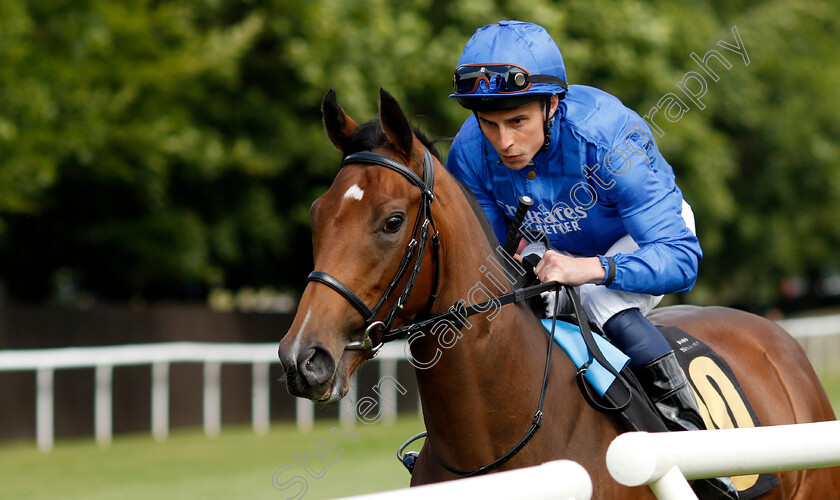
M 481 131 L 508 168 L 525 168 L 542 148 L 545 142 L 544 102 L 540 99 L 507 111 L 478 112 Z M 558 102 L 557 96 L 551 97 L 551 114 Z

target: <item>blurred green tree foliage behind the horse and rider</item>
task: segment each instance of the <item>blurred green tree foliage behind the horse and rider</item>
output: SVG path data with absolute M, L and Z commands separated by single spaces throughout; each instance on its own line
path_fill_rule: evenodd
M 836 2 L 5 0 L 7 298 L 299 290 L 309 205 L 339 160 L 320 123 L 326 90 L 362 121 L 384 87 L 430 135 L 454 135 L 461 48 L 512 18 L 549 30 L 570 83 L 642 115 L 698 70 L 692 52 L 725 54 L 706 108 L 657 139 L 705 251 L 678 300 L 792 310 L 840 294 Z M 716 45 L 734 43 L 733 26 L 748 66 Z

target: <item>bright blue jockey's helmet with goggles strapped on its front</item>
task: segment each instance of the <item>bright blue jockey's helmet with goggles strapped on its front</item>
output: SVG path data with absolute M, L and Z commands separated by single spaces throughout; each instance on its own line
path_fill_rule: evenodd
M 479 28 L 464 46 L 452 81 L 467 109 L 512 109 L 559 94 L 566 84 L 560 49 L 543 28 L 522 21 L 499 21 Z

